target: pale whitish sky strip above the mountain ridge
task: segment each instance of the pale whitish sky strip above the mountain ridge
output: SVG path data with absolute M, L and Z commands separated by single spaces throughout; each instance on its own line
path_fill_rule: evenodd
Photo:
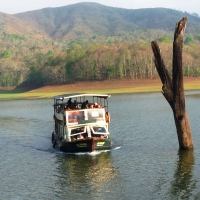
M 171 8 L 200 16 L 199 0 L 0 0 L 0 12 L 7 14 L 21 13 L 48 7 L 61 7 L 79 2 L 96 2 L 106 6 L 127 9 L 138 8 Z

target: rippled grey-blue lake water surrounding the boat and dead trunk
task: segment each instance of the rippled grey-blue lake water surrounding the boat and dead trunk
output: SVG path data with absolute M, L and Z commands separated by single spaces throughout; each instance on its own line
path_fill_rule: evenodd
M 200 92 L 186 93 L 194 150 L 179 151 L 161 93 L 112 95 L 110 151 L 53 149 L 53 99 L 0 102 L 0 199 L 200 199 Z

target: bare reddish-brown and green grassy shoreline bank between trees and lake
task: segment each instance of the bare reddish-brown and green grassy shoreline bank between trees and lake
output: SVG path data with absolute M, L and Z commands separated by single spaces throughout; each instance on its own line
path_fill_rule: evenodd
M 162 83 L 157 79 L 119 79 L 94 82 L 78 82 L 75 84 L 44 86 L 34 90 L 0 90 L 3 99 L 37 99 L 52 98 L 60 94 L 93 93 L 93 94 L 128 94 L 161 92 Z M 200 77 L 184 77 L 184 89 L 200 90 Z

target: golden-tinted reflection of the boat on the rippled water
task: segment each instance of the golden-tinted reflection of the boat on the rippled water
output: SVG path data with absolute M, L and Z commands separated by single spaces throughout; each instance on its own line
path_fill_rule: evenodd
M 103 190 L 105 192 L 106 184 L 116 176 L 110 152 L 95 156 L 67 154 L 65 158 L 59 157 L 59 162 L 58 184 L 61 191 L 71 197 L 85 193 L 100 195 Z

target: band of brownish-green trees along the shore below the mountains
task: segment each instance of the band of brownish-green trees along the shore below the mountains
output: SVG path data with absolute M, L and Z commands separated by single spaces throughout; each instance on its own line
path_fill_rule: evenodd
M 168 71 L 172 69 L 172 42 L 159 42 Z M 200 44 L 184 45 L 183 73 L 200 76 Z M 14 63 L 13 63 L 14 62 Z M 8 65 L 14 66 L 8 68 Z M 1 59 L 0 86 L 63 85 L 79 81 L 110 79 L 156 79 L 157 71 L 149 43 L 73 44 L 67 50 L 35 51 L 32 57 Z

